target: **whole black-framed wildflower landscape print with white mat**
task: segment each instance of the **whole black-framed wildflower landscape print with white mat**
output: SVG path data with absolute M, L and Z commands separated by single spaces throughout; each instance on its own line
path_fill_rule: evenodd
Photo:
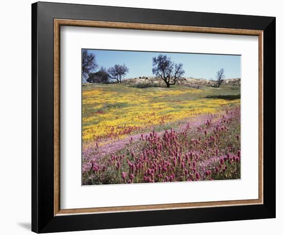
M 275 17 L 32 4 L 32 231 L 264 218 Z

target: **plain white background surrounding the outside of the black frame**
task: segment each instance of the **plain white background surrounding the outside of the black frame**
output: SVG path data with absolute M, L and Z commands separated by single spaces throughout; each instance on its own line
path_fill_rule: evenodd
M 72 1 L 93 5 L 109 5 L 168 10 L 187 10 L 276 16 L 276 78 L 277 78 L 277 218 L 270 220 L 232 221 L 220 223 L 173 225 L 143 228 L 125 228 L 83 231 L 76 234 L 281 234 L 282 207 L 282 156 L 283 118 L 282 97 L 279 91 L 280 57 L 283 50 L 280 28 L 283 25 L 283 8 L 280 1 L 127 1 L 99 0 Z M 28 234 L 31 220 L 31 6 L 33 1 L 3 1 L 0 7 L 0 233 Z M 48 1 L 50 2 L 50 1 Z M 56 2 L 65 2 L 56 0 Z M 281 88 L 281 89 L 280 89 Z M 279 107 L 281 106 L 281 107 Z M 279 185 L 281 187 L 279 187 Z M 110 222 L 111 223 L 111 222 Z M 64 234 L 75 234 L 64 233 Z

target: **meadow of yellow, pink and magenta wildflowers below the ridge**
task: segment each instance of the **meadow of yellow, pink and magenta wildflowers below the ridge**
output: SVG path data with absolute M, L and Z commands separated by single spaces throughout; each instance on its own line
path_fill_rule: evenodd
M 240 86 L 82 86 L 82 184 L 240 179 Z

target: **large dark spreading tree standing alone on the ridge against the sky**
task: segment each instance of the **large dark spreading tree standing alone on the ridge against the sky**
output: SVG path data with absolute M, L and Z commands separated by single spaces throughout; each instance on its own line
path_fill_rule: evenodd
M 175 85 L 176 80 L 180 79 L 185 73 L 183 69 L 183 64 L 176 64 L 171 61 L 170 57 L 167 55 L 158 55 L 152 58 L 152 73 L 160 77 L 167 87 L 170 85 Z

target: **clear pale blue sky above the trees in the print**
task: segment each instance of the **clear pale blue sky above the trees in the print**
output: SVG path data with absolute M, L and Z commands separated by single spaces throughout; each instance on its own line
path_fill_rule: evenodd
M 184 77 L 202 79 L 215 79 L 216 72 L 223 68 L 225 79 L 239 78 L 241 76 L 240 55 L 194 54 L 171 52 L 143 52 L 118 50 L 91 50 L 96 55 L 97 64 L 106 68 L 115 64 L 125 64 L 129 73 L 125 78 L 139 76 L 153 76 L 152 57 L 165 54 L 171 61 L 182 63 L 185 70 Z

